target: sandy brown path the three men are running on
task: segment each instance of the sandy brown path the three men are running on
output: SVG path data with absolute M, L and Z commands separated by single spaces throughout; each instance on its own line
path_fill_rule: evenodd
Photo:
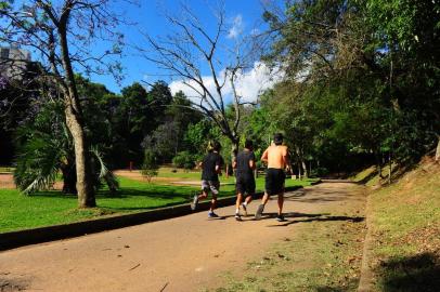
M 324 182 L 286 194 L 284 223 L 274 220 L 273 199 L 258 222 L 236 222 L 235 208 L 228 207 L 218 210 L 220 220 L 199 212 L 0 252 L 0 291 L 200 291 L 221 283 L 221 273 L 240 274 L 271 244 L 295 237 L 313 218 L 308 214 L 331 208 L 336 216 L 348 204 L 363 209 L 364 194 L 355 184 Z

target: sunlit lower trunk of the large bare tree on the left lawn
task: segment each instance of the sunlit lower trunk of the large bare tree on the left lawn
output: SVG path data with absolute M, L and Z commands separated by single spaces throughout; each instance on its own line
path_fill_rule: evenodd
M 90 165 L 90 152 L 83 128 L 70 106 L 66 107 L 65 112 L 67 127 L 74 138 L 75 146 L 75 165 L 77 175 L 76 189 L 78 191 L 78 207 L 96 207 L 94 189 L 92 185 L 93 180 Z

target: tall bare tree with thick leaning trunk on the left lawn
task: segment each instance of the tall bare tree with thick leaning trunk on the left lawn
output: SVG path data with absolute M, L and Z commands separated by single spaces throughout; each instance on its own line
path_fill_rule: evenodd
M 78 204 L 95 205 L 89 142 L 75 81 L 75 72 L 117 76 L 120 66 L 108 57 L 120 54 L 122 35 L 116 32 L 121 22 L 111 9 L 111 0 L 35 0 L 21 6 L 2 1 L 0 43 L 27 48 L 36 52 L 46 72 L 39 78 L 52 82 L 62 93 L 65 117 L 74 138 Z M 108 43 L 111 50 L 91 52 L 94 42 Z

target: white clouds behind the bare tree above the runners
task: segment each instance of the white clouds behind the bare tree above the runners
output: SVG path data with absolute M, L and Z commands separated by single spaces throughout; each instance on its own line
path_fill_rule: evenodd
M 224 69 L 221 70 L 218 76 L 224 76 Z M 264 90 L 272 88 L 276 82 L 281 81 L 282 78 L 283 76 L 281 74 L 274 75 L 266 64 L 256 62 L 251 69 L 238 74 L 235 89 L 241 96 L 241 102 L 254 103 Z M 218 97 L 212 77 L 205 76 L 203 80 L 209 92 Z M 197 90 L 200 89 L 194 81 L 189 82 L 189 84 Z M 169 88 L 172 94 L 182 91 L 191 101 L 195 103 L 199 103 L 200 101 L 199 95 L 182 80 L 172 81 Z M 227 82 L 224 85 L 222 94 L 227 103 L 232 101 L 233 92 L 230 82 Z

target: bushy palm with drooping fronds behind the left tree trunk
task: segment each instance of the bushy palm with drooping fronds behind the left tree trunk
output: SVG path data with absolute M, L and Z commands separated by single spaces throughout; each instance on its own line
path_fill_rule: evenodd
M 75 150 L 66 125 L 61 102 L 35 105 L 36 115 L 23 122 L 17 131 L 18 155 L 14 181 L 24 194 L 49 189 L 62 173 L 63 193 L 76 194 Z M 118 183 L 105 165 L 98 147 L 90 149 L 93 157 L 94 187 L 104 181 L 114 191 Z

